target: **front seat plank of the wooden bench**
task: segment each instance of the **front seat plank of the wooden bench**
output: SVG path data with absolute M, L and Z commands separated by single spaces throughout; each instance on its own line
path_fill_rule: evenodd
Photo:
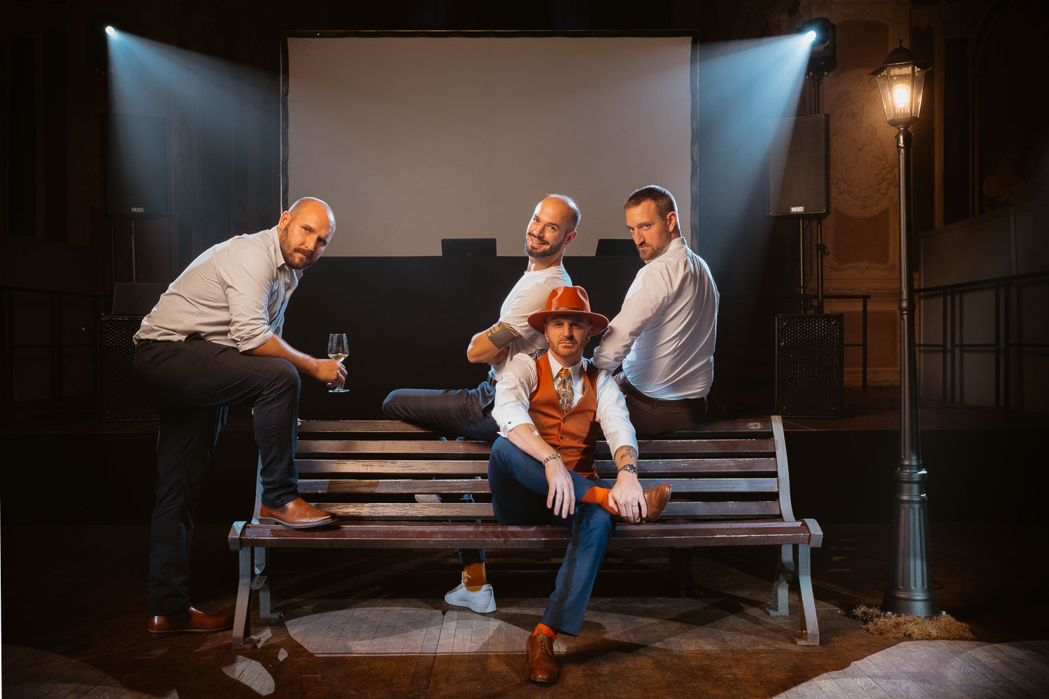
M 239 523 L 238 523 L 239 524 Z M 237 525 L 234 525 L 234 531 Z M 613 548 L 662 546 L 735 546 L 746 544 L 808 543 L 804 522 L 688 522 L 620 524 Z M 234 549 L 270 548 L 563 548 L 572 533 L 557 526 L 507 527 L 491 523 L 412 522 L 390 524 L 361 522 L 317 529 L 286 529 L 280 525 L 248 524 L 240 536 L 230 534 Z

